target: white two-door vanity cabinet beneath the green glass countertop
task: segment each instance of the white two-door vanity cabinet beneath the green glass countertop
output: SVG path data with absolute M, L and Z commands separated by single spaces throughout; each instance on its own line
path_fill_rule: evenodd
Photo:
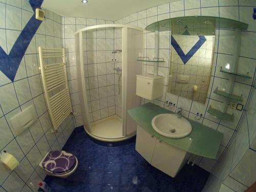
M 139 125 L 137 125 L 136 151 L 148 163 L 171 177 L 175 177 L 186 162 L 186 151 L 161 141 Z

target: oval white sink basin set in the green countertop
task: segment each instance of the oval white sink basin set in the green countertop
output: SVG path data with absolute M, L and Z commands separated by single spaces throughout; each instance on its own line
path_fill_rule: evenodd
M 174 114 L 160 114 L 152 119 L 153 129 L 169 138 L 182 138 L 192 131 L 191 124 L 185 118 L 178 118 Z

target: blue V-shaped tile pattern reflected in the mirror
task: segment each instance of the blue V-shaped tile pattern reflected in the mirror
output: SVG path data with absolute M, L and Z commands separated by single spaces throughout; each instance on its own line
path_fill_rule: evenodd
M 178 53 L 178 55 L 180 56 L 181 60 L 184 62 L 184 65 L 186 64 L 186 62 L 193 57 L 193 55 L 197 52 L 197 50 L 200 49 L 200 47 L 202 47 L 202 45 L 204 44 L 204 42 L 206 41 L 206 38 L 204 36 L 198 36 L 199 40 L 196 42 L 196 44 L 187 52 L 187 54 L 185 54 L 182 49 L 180 48 L 178 42 L 175 40 L 175 38 L 173 37 L 173 35 L 171 36 L 171 41 L 170 44 L 172 44 L 172 46 L 174 47 L 175 51 Z

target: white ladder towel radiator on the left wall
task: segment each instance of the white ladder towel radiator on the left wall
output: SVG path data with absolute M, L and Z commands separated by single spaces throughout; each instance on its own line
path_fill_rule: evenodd
M 65 49 L 44 49 L 39 47 L 38 50 L 39 69 L 41 70 L 46 103 L 53 130 L 57 132 L 58 126 L 72 113 Z M 50 64 L 48 64 L 48 59 L 52 61 Z M 56 62 L 56 60 L 58 61 Z

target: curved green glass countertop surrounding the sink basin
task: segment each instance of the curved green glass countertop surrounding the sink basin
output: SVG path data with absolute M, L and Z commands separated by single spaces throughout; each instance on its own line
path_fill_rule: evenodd
M 184 138 L 168 138 L 158 134 L 153 129 L 151 121 L 156 115 L 172 112 L 153 103 L 146 103 L 128 110 L 128 113 L 138 123 L 138 125 L 158 139 L 191 154 L 216 159 L 223 137 L 221 132 L 211 129 L 201 123 L 187 119 L 192 125 L 192 132 Z

